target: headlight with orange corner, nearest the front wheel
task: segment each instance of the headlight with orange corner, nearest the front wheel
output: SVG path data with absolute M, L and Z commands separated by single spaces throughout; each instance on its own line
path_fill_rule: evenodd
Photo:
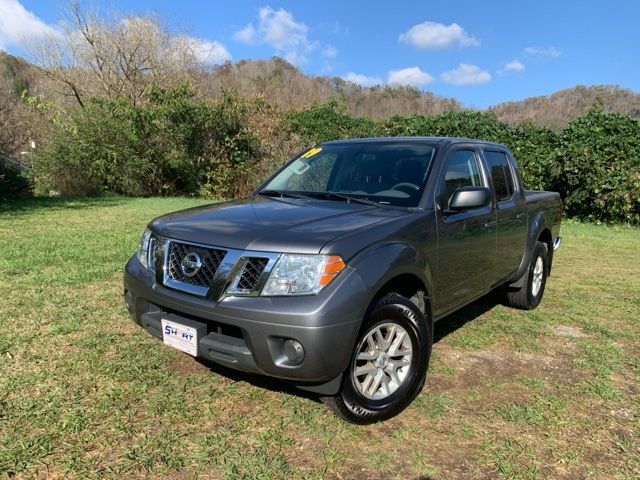
M 312 295 L 318 293 L 345 267 L 338 255 L 282 254 L 261 295 Z

